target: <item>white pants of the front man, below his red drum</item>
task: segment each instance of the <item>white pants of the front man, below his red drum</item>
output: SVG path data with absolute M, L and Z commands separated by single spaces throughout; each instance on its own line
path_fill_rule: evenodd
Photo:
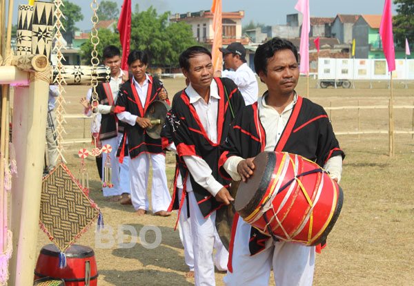
M 266 241 L 266 249 L 250 256 L 250 228 L 250 225 L 239 218 L 233 244 L 233 273 L 228 271 L 224 277 L 226 285 L 268 286 L 272 267 L 277 286 L 312 285 L 315 247 L 291 242 L 274 242 L 273 238 L 270 238 Z

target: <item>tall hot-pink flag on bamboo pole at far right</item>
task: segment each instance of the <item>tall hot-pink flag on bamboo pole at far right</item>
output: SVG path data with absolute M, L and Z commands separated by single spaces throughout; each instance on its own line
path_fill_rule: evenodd
M 395 70 L 395 51 L 393 39 L 393 15 L 391 15 L 391 0 L 385 0 L 384 12 L 382 12 L 380 35 L 382 48 L 388 64 L 388 71 Z

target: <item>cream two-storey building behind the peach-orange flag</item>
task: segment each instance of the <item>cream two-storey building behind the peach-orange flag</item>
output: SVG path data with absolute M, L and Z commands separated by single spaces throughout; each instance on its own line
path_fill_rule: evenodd
M 242 19 L 244 10 L 237 12 L 223 12 L 221 21 L 223 24 L 223 46 L 239 41 L 242 44 L 248 44 L 248 39 L 242 37 Z M 191 26 L 193 36 L 196 41 L 213 46 L 213 12 L 210 10 L 201 10 L 199 12 L 187 12 L 186 14 L 170 15 L 170 21 L 185 21 Z

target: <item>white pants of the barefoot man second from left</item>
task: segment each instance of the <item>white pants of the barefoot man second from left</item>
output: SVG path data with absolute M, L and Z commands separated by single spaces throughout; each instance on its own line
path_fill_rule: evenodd
M 132 205 L 135 210 L 148 211 L 147 187 L 150 172 L 150 159 L 152 162 L 152 212 L 166 211 L 170 206 L 171 196 L 167 187 L 166 156 L 164 154 L 141 153 L 130 160 L 129 178 Z

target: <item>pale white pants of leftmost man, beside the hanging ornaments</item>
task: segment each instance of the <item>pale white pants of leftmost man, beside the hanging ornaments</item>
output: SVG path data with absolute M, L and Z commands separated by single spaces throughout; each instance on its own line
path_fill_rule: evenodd
M 110 157 L 110 166 L 112 168 L 112 184 L 114 187 L 108 188 L 103 187 L 103 196 L 119 196 L 122 193 L 122 190 L 119 187 L 119 160 L 117 158 L 117 150 L 118 150 L 118 137 L 113 137 L 107 140 L 101 140 L 102 146 L 106 144 L 110 144 L 112 146 L 112 152 L 109 154 L 102 152 L 102 173 L 103 167 L 105 166 L 106 157 L 109 155 Z M 103 175 L 102 175 L 102 182 L 103 182 Z

